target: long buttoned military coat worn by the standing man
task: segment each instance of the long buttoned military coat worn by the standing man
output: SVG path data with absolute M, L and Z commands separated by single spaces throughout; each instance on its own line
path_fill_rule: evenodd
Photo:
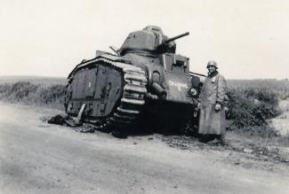
M 224 98 L 226 95 L 227 83 L 225 78 L 215 72 L 205 78 L 200 94 L 200 120 L 199 134 L 224 135 L 226 132 L 226 118 L 224 110 Z M 216 103 L 221 104 L 221 110 L 216 112 Z

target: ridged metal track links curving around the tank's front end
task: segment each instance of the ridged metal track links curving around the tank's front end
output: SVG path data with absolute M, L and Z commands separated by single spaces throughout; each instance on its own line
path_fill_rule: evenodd
M 123 75 L 122 80 L 124 81 L 123 96 L 120 102 L 116 103 L 114 112 L 106 118 L 93 122 L 94 128 L 100 131 L 130 127 L 140 114 L 141 108 L 145 104 L 144 96 L 147 93 L 148 80 L 145 72 L 138 66 L 116 61 L 112 57 L 114 56 L 109 55 L 109 58 L 100 57 L 93 60 L 93 64 L 99 63 L 96 66 L 110 66 L 116 69 Z

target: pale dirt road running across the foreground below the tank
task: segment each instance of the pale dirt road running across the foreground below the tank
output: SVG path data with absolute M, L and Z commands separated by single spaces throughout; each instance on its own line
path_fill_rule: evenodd
M 77 133 L 42 121 L 54 113 L 0 103 L 1 193 L 288 193 L 288 166 L 246 168 L 224 162 L 229 151 L 175 149 L 160 135 Z

